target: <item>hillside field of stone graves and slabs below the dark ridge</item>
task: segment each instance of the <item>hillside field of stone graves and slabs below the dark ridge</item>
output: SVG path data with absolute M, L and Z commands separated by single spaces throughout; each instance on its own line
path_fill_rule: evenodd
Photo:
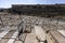
M 63 20 L 0 14 L 0 26 L 1 43 L 11 43 L 11 41 L 12 43 L 65 43 L 65 22 Z

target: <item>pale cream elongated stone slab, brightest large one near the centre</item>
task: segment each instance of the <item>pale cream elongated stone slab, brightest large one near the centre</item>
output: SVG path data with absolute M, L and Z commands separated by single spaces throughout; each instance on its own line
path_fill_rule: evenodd
M 46 31 L 41 28 L 41 26 L 35 26 L 35 34 L 39 41 L 46 41 Z

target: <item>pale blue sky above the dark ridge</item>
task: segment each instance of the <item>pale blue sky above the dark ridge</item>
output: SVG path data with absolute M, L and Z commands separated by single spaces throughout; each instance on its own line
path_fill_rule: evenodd
M 11 8 L 12 4 L 55 4 L 65 0 L 0 0 L 0 8 Z

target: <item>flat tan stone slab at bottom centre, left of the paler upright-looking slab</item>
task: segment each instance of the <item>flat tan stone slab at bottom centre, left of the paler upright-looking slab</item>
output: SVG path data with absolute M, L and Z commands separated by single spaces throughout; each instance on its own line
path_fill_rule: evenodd
M 39 42 L 34 33 L 27 33 L 27 37 L 24 43 L 39 43 Z

